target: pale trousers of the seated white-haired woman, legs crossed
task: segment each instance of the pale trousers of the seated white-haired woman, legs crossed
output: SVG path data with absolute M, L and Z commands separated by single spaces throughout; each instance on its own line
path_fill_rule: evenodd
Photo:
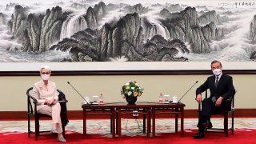
M 52 106 L 46 105 L 38 110 L 39 113 L 51 116 L 53 122 L 52 130 L 55 130 L 58 134 L 62 133 L 61 109 L 61 105 L 57 102 Z

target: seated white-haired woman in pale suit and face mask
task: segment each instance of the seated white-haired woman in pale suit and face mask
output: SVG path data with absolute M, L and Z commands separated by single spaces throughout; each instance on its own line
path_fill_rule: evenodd
M 39 113 L 52 117 L 52 132 L 58 134 L 58 142 L 66 142 L 62 135 L 61 106 L 58 102 L 56 84 L 49 81 L 51 70 L 49 66 L 42 66 L 40 69 L 42 80 L 34 83 L 34 98 L 38 100 L 37 109 Z

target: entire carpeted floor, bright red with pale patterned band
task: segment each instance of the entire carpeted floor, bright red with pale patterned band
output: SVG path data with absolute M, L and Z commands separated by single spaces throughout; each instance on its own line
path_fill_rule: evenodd
M 186 118 L 184 120 L 184 137 L 174 133 L 174 119 L 161 118 L 156 121 L 156 137 L 146 138 L 142 134 L 142 120 L 122 119 L 122 138 L 111 138 L 110 120 L 87 121 L 86 138 L 82 137 L 82 120 L 71 120 L 66 126 L 66 140 L 68 143 L 256 143 L 256 119 L 235 118 L 234 134 L 228 138 L 222 133 L 206 133 L 206 138 L 193 139 L 197 133 L 197 118 Z M 214 126 L 222 126 L 222 118 L 212 118 Z M 40 125 L 49 130 L 50 121 L 43 121 Z M 26 121 L 0 121 L 0 143 L 34 143 L 34 134 L 27 137 Z M 55 143 L 57 136 L 41 136 L 36 143 Z M 58 142 L 59 143 L 59 142 Z

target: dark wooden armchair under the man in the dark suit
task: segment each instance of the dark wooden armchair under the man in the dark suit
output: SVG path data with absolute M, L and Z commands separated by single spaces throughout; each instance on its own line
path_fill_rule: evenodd
M 207 98 L 207 90 L 206 90 L 206 98 Z M 199 116 L 201 112 L 201 104 L 198 105 Z M 226 137 L 229 135 L 229 130 L 231 130 L 231 134 L 234 134 L 234 96 L 226 99 L 226 110 L 218 111 L 212 115 L 222 115 L 224 118 L 224 127 L 223 128 L 215 128 L 212 127 L 210 129 L 206 129 L 206 132 L 217 132 L 217 133 L 225 133 Z M 199 117 L 198 117 L 199 118 Z M 231 118 L 231 126 L 229 127 L 229 118 Z

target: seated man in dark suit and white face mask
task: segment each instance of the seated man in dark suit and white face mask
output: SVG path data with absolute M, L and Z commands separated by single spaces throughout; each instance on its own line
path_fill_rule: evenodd
M 214 75 L 208 77 L 196 90 L 196 101 L 202 102 L 202 111 L 198 121 L 198 134 L 194 135 L 195 139 L 205 138 L 205 129 L 212 127 L 210 115 L 214 111 L 225 110 L 226 99 L 235 94 L 233 79 L 222 73 L 222 63 L 215 60 L 210 66 Z M 210 89 L 210 97 L 202 100 L 201 93 L 207 89 Z

